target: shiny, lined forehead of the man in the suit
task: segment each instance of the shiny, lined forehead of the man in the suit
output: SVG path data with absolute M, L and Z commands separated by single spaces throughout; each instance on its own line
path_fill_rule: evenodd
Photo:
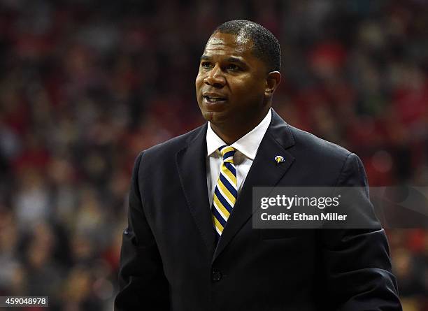
M 217 32 L 208 39 L 204 55 L 227 55 L 252 57 L 252 41 L 241 34 L 223 34 Z

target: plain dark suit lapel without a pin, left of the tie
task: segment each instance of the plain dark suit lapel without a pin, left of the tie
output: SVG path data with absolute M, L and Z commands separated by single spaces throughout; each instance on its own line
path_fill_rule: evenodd
M 197 137 L 176 155 L 178 173 L 187 205 L 212 255 L 215 247 L 213 218 L 206 185 L 206 124 Z

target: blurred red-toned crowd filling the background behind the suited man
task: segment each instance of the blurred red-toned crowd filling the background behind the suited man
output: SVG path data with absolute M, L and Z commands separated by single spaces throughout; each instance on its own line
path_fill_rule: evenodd
M 428 1 L 0 0 L 0 296 L 113 310 L 134 159 L 204 122 L 199 57 L 234 19 L 279 39 L 287 122 L 371 186 L 428 185 Z M 387 235 L 404 310 L 427 311 L 428 231 Z

